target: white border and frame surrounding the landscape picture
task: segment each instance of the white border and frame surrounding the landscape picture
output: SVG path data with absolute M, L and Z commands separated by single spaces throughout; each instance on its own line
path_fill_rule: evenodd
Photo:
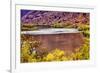
M 13 5 L 13 4 L 12 4 Z M 23 67 L 25 67 L 25 64 L 24 65 L 22 65 L 22 67 L 21 68 L 23 68 L 23 69 L 21 69 L 20 67 L 19 67 L 19 69 L 17 68 L 17 64 L 18 64 L 18 62 L 16 62 L 17 61 L 17 57 L 16 57 L 16 52 L 14 52 L 16 49 L 13 49 L 13 48 L 16 48 L 16 44 L 17 43 L 15 43 L 16 42 L 16 25 L 12 25 L 12 24 L 16 24 L 16 17 L 18 17 L 18 16 L 16 16 L 16 5 L 21 5 L 21 6 L 23 6 L 24 4 L 14 4 L 14 7 L 12 7 L 12 9 L 11 9 L 11 72 L 12 73 L 14 73 L 14 72 L 18 72 L 18 71 L 31 71 L 32 69 L 33 69 L 33 67 L 31 66 L 30 67 L 30 65 L 32 64 L 28 64 L 27 65 L 27 67 L 29 68 L 30 67 L 30 69 L 28 69 L 27 67 L 26 68 L 23 68 Z M 26 5 L 26 4 L 25 4 Z M 41 6 L 41 7 L 43 7 L 43 6 L 46 6 L 45 4 L 44 5 L 31 5 L 31 4 L 28 4 L 28 5 L 30 5 L 30 6 Z M 75 6 L 75 7 L 74 7 Z M 77 67 L 77 68 L 79 68 L 79 67 L 88 67 L 88 66 L 94 66 L 95 65 L 95 48 L 96 48 L 96 46 L 95 46 L 95 40 L 94 40 L 94 38 L 95 38 L 95 34 L 96 34 L 96 31 L 95 31 L 95 20 L 94 19 L 91 19 L 91 18 L 95 18 L 95 8 L 94 7 L 88 7 L 87 8 L 87 6 L 85 5 L 84 7 L 83 6 L 79 6 L 79 5 L 66 5 L 66 6 L 46 6 L 46 7 L 58 7 L 58 8 L 79 8 L 79 9 L 85 9 L 85 10 L 87 10 L 87 9 L 89 9 L 90 10 L 90 24 L 92 24 L 92 25 L 90 25 L 90 36 L 91 36 L 91 38 L 90 38 L 90 41 L 93 41 L 93 42 L 91 42 L 90 43 L 90 47 L 92 46 L 93 47 L 93 50 L 90 52 L 91 54 L 92 54 L 92 58 L 91 58 L 91 60 L 89 60 L 89 61 L 86 61 L 86 60 L 83 60 L 83 61 L 70 61 L 70 62 L 67 62 L 66 64 L 67 64 L 67 66 L 65 65 L 65 62 L 52 62 L 52 65 L 51 65 L 51 63 L 48 63 L 48 62 L 46 62 L 46 63 L 34 63 L 34 66 L 42 66 L 42 65 L 47 65 L 47 63 L 48 63 L 48 65 L 49 65 L 49 67 L 47 68 L 47 67 L 44 67 L 44 68 L 41 68 L 41 67 L 37 67 L 37 68 L 34 68 L 34 70 L 48 70 L 49 68 L 52 68 L 52 69 L 66 69 L 66 68 L 75 68 L 75 67 Z M 14 12 L 15 11 L 15 12 Z M 91 33 L 92 32 L 92 33 Z M 19 32 L 17 33 L 17 34 L 20 34 Z M 60 66 L 60 67 L 59 67 Z M 66 68 L 65 68 L 66 67 Z M 32 70 L 32 71 L 34 71 L 34 70 Z M 50 69 L 51 70 L 51 69 Z

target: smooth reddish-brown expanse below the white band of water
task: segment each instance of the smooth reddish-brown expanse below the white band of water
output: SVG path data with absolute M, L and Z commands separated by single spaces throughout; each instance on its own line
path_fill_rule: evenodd
M 25 35 L 28 40 L 40 41 L 41 44 L 37 49 L 47 48 L 48 51 L 53 49 L 62 49 L 75 51 L 76 48 L 84 43 L 81 33 L 64 33 L 64 34 L 45 34 L 45 35 Z

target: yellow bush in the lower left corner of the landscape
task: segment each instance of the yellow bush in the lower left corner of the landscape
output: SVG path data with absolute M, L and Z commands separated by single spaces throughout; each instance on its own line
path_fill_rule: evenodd
M 31 45 L 28 41 L 24 41 L 21 48 L 21 63 L 36 62 L 36 53 L 30 54 Z

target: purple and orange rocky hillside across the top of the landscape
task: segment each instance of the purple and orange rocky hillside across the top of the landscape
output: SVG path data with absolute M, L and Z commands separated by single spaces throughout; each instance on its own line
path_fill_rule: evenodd
M 23 14 L 25 10 L 21 11 Z M 89 13 L 80 12 L 60 12 L 60 11 L 36 11 L 29 10 L 21 17 L 21 23 L 33 25 L 52 25 L 54 23 L 87 23 L 89 22 Z

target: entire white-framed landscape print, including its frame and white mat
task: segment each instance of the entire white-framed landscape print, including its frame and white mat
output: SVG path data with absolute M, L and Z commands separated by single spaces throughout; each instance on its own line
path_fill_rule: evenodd
M 95 65 L 92 6 L 11 2 L 11 72 Z

